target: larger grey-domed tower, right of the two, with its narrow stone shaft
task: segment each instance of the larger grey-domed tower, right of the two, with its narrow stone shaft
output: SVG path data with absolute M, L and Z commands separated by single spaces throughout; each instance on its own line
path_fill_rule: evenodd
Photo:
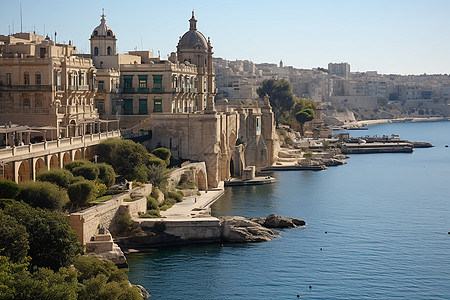
M 179 40 L 177 57 L 180 63 L 189 62 L 198 70 L 198 105 L 201 110 L 214 111 L 214 69 L 212 65 L 212 46 L 205 36 L 197 30 L 197 20 L 192 11 L 189 31 Z

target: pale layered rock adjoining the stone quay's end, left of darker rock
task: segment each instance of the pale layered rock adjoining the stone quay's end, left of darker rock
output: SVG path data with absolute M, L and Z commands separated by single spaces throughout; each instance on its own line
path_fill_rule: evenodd
M 225 242 L 266 242 L 276 237 L 276 234 L 262 225 L 244 217 L 219 217 L 221 238 Z

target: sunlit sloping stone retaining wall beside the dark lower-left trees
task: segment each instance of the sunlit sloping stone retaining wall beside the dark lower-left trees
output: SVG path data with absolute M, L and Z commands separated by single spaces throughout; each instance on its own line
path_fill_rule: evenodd
M 128 206 L 132 217 L 138 217 L 139 212 L 147 211 L 147 199 L 144 195 L 151 193 L 151 184 L 142 188 L 133 189 L 131 192 L 117 195 L 111 200 L 99 203 L 83 211 L 70 214 L 70 225 L 78 234 L 78 241 L 85 245 L 91 237 L 98 233 L 99 227 L 109 229 L 114 218 L 119 213 L 120 206 Z M 141 198 L 133 202 L 124 202 L 131 198 L 131 193 L 141 194 Z

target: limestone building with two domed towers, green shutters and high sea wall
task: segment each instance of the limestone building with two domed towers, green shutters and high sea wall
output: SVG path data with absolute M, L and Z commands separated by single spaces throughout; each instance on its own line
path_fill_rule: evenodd
M 175 158 L 204 161 L 209 187 L 242 175 L 248 165 L 273 163 L 274 120 L 268 101 L 263 108 L 216 110 L 213 47 L 197 29 L 194 13 L 167 60 L 148 51 L 116 54 L 117 38 L 104 15 L 90 41 L 99 83 L 97 108 L 108 118 L 120 118 L 121 128 L 149 120 L 149 148 L 163 146 Z M 114 92 L 117 78 L 120 88 Z

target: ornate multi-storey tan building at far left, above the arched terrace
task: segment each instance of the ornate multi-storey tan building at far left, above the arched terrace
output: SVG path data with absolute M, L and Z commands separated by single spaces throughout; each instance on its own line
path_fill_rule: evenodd
M 74 46 L 47 36 L 0 36 L 0 123 L 43 127 L 46 137 L 99 130 L 97 70 Z M 103 125 L 104 126 L 104 125 Z

